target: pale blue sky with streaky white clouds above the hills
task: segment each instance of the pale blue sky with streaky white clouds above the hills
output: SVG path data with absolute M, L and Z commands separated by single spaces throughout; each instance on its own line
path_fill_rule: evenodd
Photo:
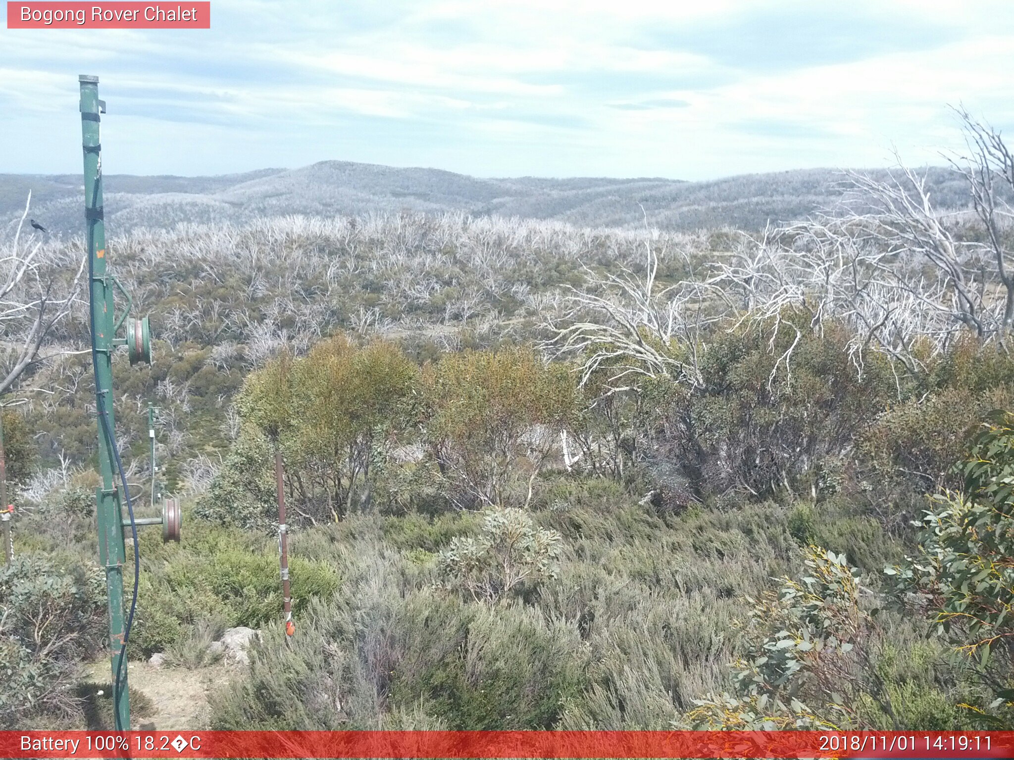
M 3 4 L 6 5 L 5 3 Z M 0 172 L 322 160 L 707 179 L 943 163 L 1014 129 L 1008 0 L 212 0 L 207 30 L 0 28 Z M 4 10 L 6 14 L 6 10 Z

